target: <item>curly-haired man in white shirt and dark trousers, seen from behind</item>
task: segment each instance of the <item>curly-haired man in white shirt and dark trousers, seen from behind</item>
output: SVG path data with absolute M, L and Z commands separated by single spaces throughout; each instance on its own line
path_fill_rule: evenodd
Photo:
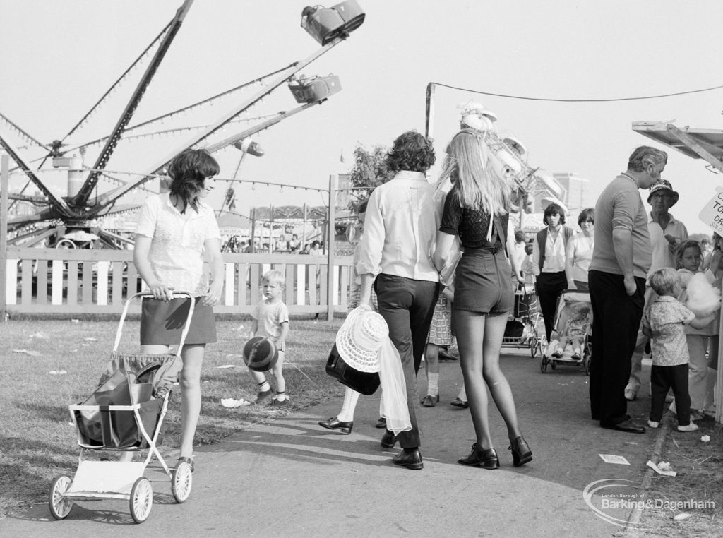
M 360 304 L 369 304 L 372 285 L 379 313 L 401 358 L 411 430 L 387 430 L 383 448 L 396 441 L 403 449 L 393 462 L 422 469 L 422 445 L 416 408 L 416 373 L 439 294 L 439 275 L 432 263 L 440 213 L 435 189 L 424 175 L 435 163 L 432 141 L 416 131 L 401 134 L 387 157 L 396 175 L 369 197 L 356 272 L 361 276 Z

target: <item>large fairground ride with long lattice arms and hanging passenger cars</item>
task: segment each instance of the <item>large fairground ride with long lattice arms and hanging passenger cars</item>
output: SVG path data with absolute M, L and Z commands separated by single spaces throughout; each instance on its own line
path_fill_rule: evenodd
M 349 34 L 364 22 L 365 17 L 364 11 L 356 0 L 346 0 L 330 8 L 306 7 L 301 13 L 301 27 L 320 44 L 320 48 L 313 54 L 203 101 L 147 121 L 132 124 L 134 112 L 179 32 L 192 4 L 193 0 L 184 1 L 171 22 L 161 30 L 153 42 L 64 137 L 49 144 L 40 142 L 7 116 L 0 114 L 0 147 L 9 154 L 16 166 L 11 170 L 11 178 L 14 174 L 22 174 L 25 182 L 20 192 L 9 193 L 9 199 L 12 200 L 12 204 L 25 202 L 36 208 L 30 213 L 11 216 L 8 219 L 9 245 L 35 247 L 40 244 L 48 244 L 51 247 L 71 248 L 96 245 L 113 249 L 124 248 L 132 241 L 121 234 L 103 229 L 100 222 L 108 215 L 136 209 L 138 204 L 121 204 L 124 201 L 123 198 L 139 189 L 152 192 L 147 182 L 153 179 L 159 179 L 161 189 L 167 189 L 168 178 L 164 175 L 165 167 L 174 155 L 187 148 L 205 148 L 210 153 L 229 146 L 238 148 L 241 151 L 239 164 L 236 166 L 234 177 L 227 181 L 228 185 L 231 182 L 244 182 L 237 176 L 245 155 L 263 155 L 260 146 L 252 140 L 254 134 L 268 129 L 294 114 L 299 114 L 307 108 L 320 105 L 330 95 L 341 90 L 339 79 L 334 75 L 297 77 L 297 74 L 312 61 L 348 38 Z M 98 107 L 106 103 L 109 95 L 115 93 L 121 82 L 125 82 L 129 78 L 129 74 L 142 67 L 142 64 L 146 64 L 145 71 L 110 134 L 95 140 L 76 142 L 77 133 L 87 124 Z M 248 116 L 252 107 L 262 102 L 265 97 L 285 83 L 299 106 L 288 111 L 278 112 L 278 114 L 255 118 Z M 247 92 L 251 90 L 253 93 L 251 95 L 244 93 L 241 96 L 241 90 L 247 90 Z M 197 108 L 213 105 L 221 99 L 232 100 L 234 103 L 230 110 L 210 124 L 159 130 L 164 120 L 184 115 Z M 236 124 L 249 124 L 252 121 L 257 121 L 257 123 L 236 132 L 236 134 L 226 135 L 226 132 Z M 193 134 L 189 140 L 177 145 L 170 152 L 159 155 L 158 159 L 145 171 L 132 173 L 114 171 L 112 158 L 119 144 L 179 132 L 193 132 Z M 11 142 L 11 136 L 22 140 L 25 147 L 14 145 Z M 80 153 L 80 156 L 76 152 Z M 34 155 L 30 155 L 30 153 L 34 153 Z M 94 159 L 93 166 L 87 167 L 84 160 L 90 158 Z M 67 196 L 56 195 L 50 188 L 48 176 L 54 169 L 67 172 Z M 119 176 L 123 174 L 130 176 L 131 179 L 121 179 Z M 110 182 L 114 186 L 100 192 L 102 190 L 101 182 Z M 25 190 L 30 184 L 40 191 L 40 195 L 25 194 Z M 233 189 L 229 187 L 224 204 L 232 200 L 233 196 Z

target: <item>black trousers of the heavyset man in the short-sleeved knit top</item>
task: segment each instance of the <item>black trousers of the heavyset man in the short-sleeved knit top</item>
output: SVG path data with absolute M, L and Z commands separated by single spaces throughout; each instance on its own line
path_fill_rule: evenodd
M 590 410 L 602 425 L 630 419 L 625 385 L 630 377 L 630 355 L 635 349 L 645 304 L 645 279 L 635 278 L 637 290 L 629 296 L 623 275 L 591 270 L 592 303 Z

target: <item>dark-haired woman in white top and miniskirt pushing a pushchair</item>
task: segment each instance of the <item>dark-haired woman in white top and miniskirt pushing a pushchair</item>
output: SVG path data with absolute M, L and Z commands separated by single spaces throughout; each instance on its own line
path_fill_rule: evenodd
M 195 306 L 183 349 L 181 370 L 181 451 L 193 469 L 193 437 L 201 411 L 201 363 L 207 343 L 216 341 L 213 305 L 223 287 L 221 234 L 213 209 L 202 199 L 214 187 L 219 166 L 206 150 L 185 150 L 168 165 L 171 191 L 148 198 L 140 209 L 133 262 L 153 298 L 143 299 L 141 353 L 166 354 L 181 340 L 192 299 Z M 203 269 L 208 257 L 211 275 Z

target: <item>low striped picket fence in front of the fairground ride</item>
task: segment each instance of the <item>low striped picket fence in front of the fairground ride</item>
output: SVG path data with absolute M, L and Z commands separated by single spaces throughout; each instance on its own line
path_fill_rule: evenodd
M 217 314 L 250 314 L 262 298 L 262 275 L 272 268 L 286 275 L 290 314 L 346 312 L 350 256 L 335 257 L 331 269 L 325 256 L 224 253 L 223 261 Z M 129 294 L 142 291 L 130 250 L 8 247 L 6 275 L 10 315 L 114 314 Z M 140 302 L 130 312 L 140 312 Z

